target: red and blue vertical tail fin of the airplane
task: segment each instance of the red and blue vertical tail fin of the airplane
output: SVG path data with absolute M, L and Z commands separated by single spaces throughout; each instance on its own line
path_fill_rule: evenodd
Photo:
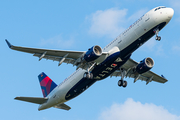
M 38 76 L 43 96 L 46 97 L 57 85 L 44 72 Z

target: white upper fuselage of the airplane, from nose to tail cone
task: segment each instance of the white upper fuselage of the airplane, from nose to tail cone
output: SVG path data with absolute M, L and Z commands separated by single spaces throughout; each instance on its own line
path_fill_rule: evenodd
M 130 25 L 130 27 L 127 30 L 125 30 L 122 34 L 120 34 L 117 38 L 115 38 L 111 43 L 109 43 L 106 47 L 104 47 L 103 52 L 108 52 L 109 56 L 116 52 L 121 52 L 121 51 L 124 51 L 125 56 L 132 54 L 134 50 L 136 50 L 144 42 L 147 41 L 146 40 L 140 42 L 140 44 L 138 43 L 138 41 L 141 41 L 141 39 L 143 38 L 142 37 L 143 35 L 147 34 L 147 36 L 145 36 L 144 38 L 149 39 L 148 33 L 150 34 L 150 30 L 152 31 L 152 29 L 156 28 L 156 26 L 160 27 L 162 23 L 165 23 L 162 26 L 163 28 L 171 20 L 173 14 L 174 11 L 172 8 L 157 7 L 150 10 L 141 18 L 139 18 L 135 23 Z M 138 43 L 138 47 L 136 43 Z M 128 53 L 126 53 L 126 51 L 128 51 Z M 106 58 L 107 57 L 108 56 L 106 56 Z M 101 63 L 106 58 L 100 57 L 97 59 L 97 62 Z M 86 70 L 79 68 L 72 75 L 66 78 L 47 96 L 48 101 L 40 105 L 39 110 L 43 110 L 68 101 L 69 99 L 66 98 L 68 98 L 71 95 L 71 94 L 69 95 L 67 94 L 68 91 L 70 91 L 73 87 L 75 87 L 77 83 L 79 83 L 82 80 L 85 72 Z M 101 76 L 99 75 L 99 77 Z M 88 87 L 89 86 L 86 86 L 85 88 L 82 89 L 82 91 L 85 91 Z M 76 89 L 74 89 L 74 92 L 76 92 Z

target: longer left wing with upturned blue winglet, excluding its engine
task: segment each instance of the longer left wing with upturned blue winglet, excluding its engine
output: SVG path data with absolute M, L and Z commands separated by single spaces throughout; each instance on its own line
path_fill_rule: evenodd
M 63 62 L 67 64 L 73 64 L 73 66 L 80 67 L 82 69 L 87 69 L 89 66 L 93 65 L 94 62 L 88 62 L 88 64 L 81 64 L 81 57 L 86 53 L 85 51 L 65 51 L 65 50 L 52 50 L 52 49 L 39 49 L 39 48 L 29 48 L 11 45 L 10 42 L 6 40 L 9 48 L 21 52 L 31 53 L 33 56 L 39 57 L 41 59 L 58 61 L 61 65 Z M 107 55 L 107 53 L 102 53 L 102 55 Z

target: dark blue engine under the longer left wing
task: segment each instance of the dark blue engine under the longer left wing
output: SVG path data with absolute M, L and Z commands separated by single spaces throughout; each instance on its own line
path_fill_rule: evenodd
M 94 61 L 97 58 L 99 58 L 101 55 L 102 55 L 101 47 L 98 45 L 95 45 L 95 46 L 88 49 L 88 51 L 84 55 L 84 60 L 86 62 L 91 62 L 91 61 Z

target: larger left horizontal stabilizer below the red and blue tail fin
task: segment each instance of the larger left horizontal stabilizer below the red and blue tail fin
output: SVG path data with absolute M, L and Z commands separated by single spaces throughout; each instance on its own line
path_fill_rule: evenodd
M 36 103 L 36 104 L 43 104 L 48 100 L 47 98 L 39 98 L 39 97 L 16 97 L 14 99 L 25 102 Z

